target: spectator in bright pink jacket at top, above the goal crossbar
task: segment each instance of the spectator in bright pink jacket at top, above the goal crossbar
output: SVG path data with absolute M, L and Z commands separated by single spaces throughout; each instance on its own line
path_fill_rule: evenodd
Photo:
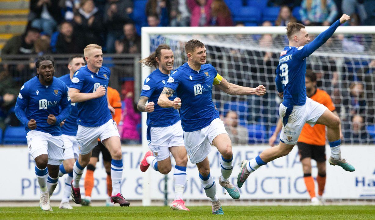
M 213 0 L 186 0 L 191 12 L 190 26 L 210 26 L 211 3 Z

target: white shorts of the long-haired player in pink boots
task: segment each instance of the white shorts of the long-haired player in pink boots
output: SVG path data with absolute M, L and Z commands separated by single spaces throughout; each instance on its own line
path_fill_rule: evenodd
M 149 127 L 150 143 L 148 147 L 154 153 L 157 161 L 165 160 L 170 156 L 169 147 L 184 145 L 181 121 L 167 127 Z

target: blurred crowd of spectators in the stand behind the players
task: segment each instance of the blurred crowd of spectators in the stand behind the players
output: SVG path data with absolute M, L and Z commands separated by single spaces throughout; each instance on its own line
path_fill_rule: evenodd
M 251 14 L 247 14 L 248 17 L 244 18 L 241 16 L 241 9 L 246 9 L 246 13 L 250 13 L 250 9 L 257 9 L 260 16 L 252 17 Z M 274 15 L 266 16 L 275 9 Z M 102 45 L 104 52 L 108 54 L 139 54 L 140 30 L 144 26 L 285 26 L 288 22 L 330 25 L 342 13 L 351 16 L 348 25 L 375 25 L 374 10 L 375 5 L 371 0 L 30 0 L 26 32 L 9 39 L 1 55 L 81 54 L 83 48 L 90 43 Z M 255 17 L 257 19 L 254 19 Z M 286 39 L 280 38 L 281 36 L 271 34 L 254 37 L 262 48 L 271 48 L 276 41 L 287 43 Z M 325 46 L 339 46 L 351 52 L 375 49 L 375 42 L 366 42 L 368 39 L 372 41 L 375 37 L 366 38 L 362 34 L 351 37 L 338 35 L 335 42 L 330 39 Z M 366 48 L 368 45 L 371 47 Z M 221 50 L 213 47 L 208 45 L 208 51 Z M 250 127 L 246 127 L 247 122 L 267 124 L 265 128 L 262 127 L 266 131 L 262 138 L 266 139 L 267 132 L 276 125 L 278 101 L 274 78 L 279 54 L 239 49 L 231 49 L 226 54 L 226 60 L 232 61 L 228 64 L 229 80 L 252 87 L 255 85 L 246 82 L 261 82 L 266 85 L 269 93 L 263 101 L 246 101 L 248 106 L 267 106 L 268 109 L 249 107 L 245 109 L 245 116 L 242 108 L 225 109 L 218 106 L 225 127 L 234 144 L 248 144 L 254 143 L 254 139 L 253 142 L 249 140 L 251 135 L 248 133 Z M 211 60 L 214 58 L 211 57 Z M 220 68 L 220 63 L 215 65 Z M 343 120 L 344 141 L 365 143 L 371 138 L 374 139 L 375 137 L 371 137 L 366 131 L 366 125 L 374 126 L 375 103 L 372 93 L 375 60 L 357 63 L 347 61 L 342 67 L 343 70 L 339 70 L 341 67 L 336 67 L 332 60 L 318 60 L 308 62 L 308 68 L 308 71 L 317 74 L 318 87 L 327 90 L 336 104 Z M 29 66 L 0 66 L 1 129 L 5 129 L 6 126 L 18 126 L 14 122 L 17 120 L 13 107 L 18 95 L 18 89 L 15 88 L 22 84 L 15 82 L 12 72 L 18 71 L 18 75 L 24 74 L 30 78 L 35 75 L 34 69 L 33 62 L 30 62 Z M 243 73 L 239 74 L 236 71 L 239 69 Z M 339 75 L 339 71 L 348 74 Z M 121 136 L 125 144 L 139 143 L 140 114 L 133 108 L 133 102 L 137 97 L 133 97 L 132 89 L 121 93 L 123 104 L 126 106 L 123 109 L 123 123 L 120 129 L 123 131 Z M 222 100 L 223 97 L 217 94 L 214 92 L 214 100 Z M 275 118 L 270 118 L 269 115 L 275 115 Z M 259 127 L 254 129 L 257 130 Z M 256 136 L 257 134 L 254 134 L 254 137 Z M 255 142 L 265 141 L 262 139 Z

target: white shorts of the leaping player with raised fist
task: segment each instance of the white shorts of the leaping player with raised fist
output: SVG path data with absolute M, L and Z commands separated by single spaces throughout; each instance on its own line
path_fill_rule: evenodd
M 295 105 L 293 108 L 287 108 L 280 104 L 279 114 L 283 122 L 280 134 L 281 142 L 285 144 L 297 144 L 298 138 L 305 123 L 314 127 L 317 120 L 328 109 L 326 106 L 315 102 L 307 97 L 305 105 Z

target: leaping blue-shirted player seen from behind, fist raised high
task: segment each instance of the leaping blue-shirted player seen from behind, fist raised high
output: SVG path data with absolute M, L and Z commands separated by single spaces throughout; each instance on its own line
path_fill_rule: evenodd
M 237 184 L 242 187 L 249 174 L 260 166 L 276 158 L 289 154 L 300 136 L 305 123 L 314 126 L 323 124 L 327 126 L 327 136 L 331 148 L 331 157 L 328 160 L 332 165 L 341 166 L 344 170 L 353 172 L 355 169 L 345 159 L 341 158 L 340 118 L 332 113 L 326 106 L 314 102 L 306 97 L 305 73 L 306 57 L 323 45 L 335 32 L 336 28 L 348 21 L 348 15 L 333 23 L 327 30 L 315 38 L 311 43 L 309 33 L 303 24 L 290 22 L 287 25 L 289 46 L 280 54 L 279 65 L 276 69 L 276 86 L 279 96 L 284 97 L 280 104 L 279 113 L 283 121 L 280 144 L 264 150 L 254 159 L 243 160 L 241 170 L 237 177 Z

